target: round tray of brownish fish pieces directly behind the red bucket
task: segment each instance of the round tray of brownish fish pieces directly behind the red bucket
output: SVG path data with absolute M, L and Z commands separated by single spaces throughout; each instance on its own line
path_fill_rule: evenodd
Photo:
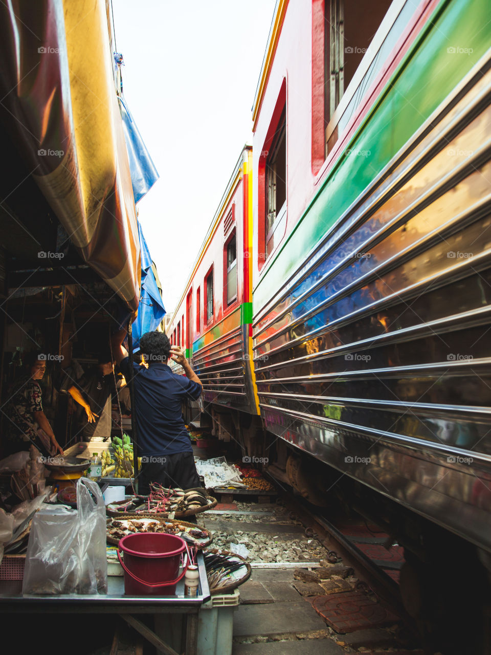
M 211 544 L 213 537 L 206 528 L 199 528 L 194 523 L 172 521 L 159 518 L 124 518 L 107 519 L 107 541 L 117 546 L 120 539 L 132 533 L 168 533 L 176 534 L 190 546 L 199 550 Z

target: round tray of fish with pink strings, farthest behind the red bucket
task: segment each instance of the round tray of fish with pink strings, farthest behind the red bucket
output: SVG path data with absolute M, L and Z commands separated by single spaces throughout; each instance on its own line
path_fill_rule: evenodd
M 181 518 L 206 512 L 217 504 L 216 498 L 208 496 L 205 489 L 168 489 L 158 483 L 152 483 L 150 489 L 148 496 L 136 495 L 110 503 L 106 514 L 111 517 Z

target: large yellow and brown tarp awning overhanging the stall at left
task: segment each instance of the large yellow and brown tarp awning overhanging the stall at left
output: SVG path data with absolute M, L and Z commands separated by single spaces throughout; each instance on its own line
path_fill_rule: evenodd
M 140 254 L 104 0 L 0 3 L 5 127 L 83 259 L 136 309 Z

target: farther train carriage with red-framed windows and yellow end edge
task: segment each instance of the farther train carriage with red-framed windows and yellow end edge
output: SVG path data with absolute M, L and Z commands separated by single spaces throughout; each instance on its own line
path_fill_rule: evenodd
M 167 329 L 172 343 L 186 348 L 213 427 L 225 440 L 234 432 L 230 417 L 259 414 L 251 348 L 251 168 L 252 148 L 245 146 Z

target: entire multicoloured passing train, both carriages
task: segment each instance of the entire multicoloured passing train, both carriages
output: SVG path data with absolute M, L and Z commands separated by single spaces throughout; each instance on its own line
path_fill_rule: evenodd
M 423 619 L 464 593 L 450 556 L 491 571 L 490 25 L 488 0 L 278 0 L 168 331 L 216 434 L 386 517 Z

